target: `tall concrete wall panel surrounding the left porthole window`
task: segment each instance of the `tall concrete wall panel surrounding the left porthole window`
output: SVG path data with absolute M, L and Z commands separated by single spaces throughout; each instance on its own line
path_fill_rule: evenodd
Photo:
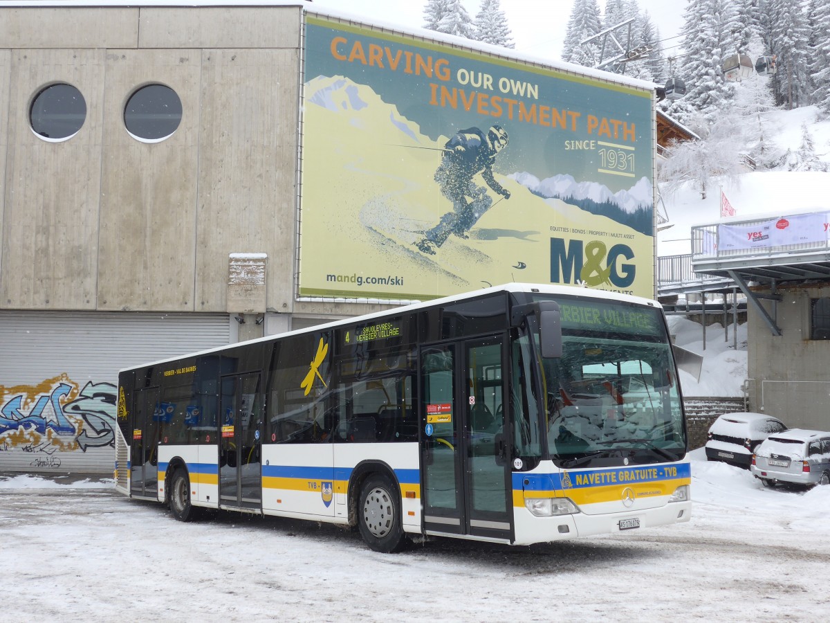
M 0 307 L 95 308 L 104 65 L 103 50 L 12 52 Z M 35 135 L 28 115 L 54 82 L 86 103 L 81 130 L 60 143 Z

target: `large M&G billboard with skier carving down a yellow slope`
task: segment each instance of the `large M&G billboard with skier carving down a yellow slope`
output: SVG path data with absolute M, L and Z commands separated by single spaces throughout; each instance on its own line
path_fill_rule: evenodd
M 652 91 L 312 14 L 304 62 L 300 296 L 653 297 Z

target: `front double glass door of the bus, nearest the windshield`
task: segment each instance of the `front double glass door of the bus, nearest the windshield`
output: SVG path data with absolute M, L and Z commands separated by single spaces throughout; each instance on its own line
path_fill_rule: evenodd
M 421 351 L 424 527 L 512 540 L 501 336 Z

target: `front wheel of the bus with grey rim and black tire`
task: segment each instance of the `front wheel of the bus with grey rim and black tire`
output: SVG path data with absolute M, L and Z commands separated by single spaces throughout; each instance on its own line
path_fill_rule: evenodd
M 358 527 L 364 542 L 375 552 L 400 552 L 406 545 L 401 525 L 401 498 L 381 474 L 366 478 L 360 489 Z

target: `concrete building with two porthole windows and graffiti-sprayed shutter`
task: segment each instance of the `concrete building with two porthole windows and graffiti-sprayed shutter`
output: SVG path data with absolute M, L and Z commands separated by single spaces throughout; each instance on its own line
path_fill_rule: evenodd
M 294 296 L 299 5 L 0 7 L 0 469 L 110 470 L 122 366 L 384 307 Z

